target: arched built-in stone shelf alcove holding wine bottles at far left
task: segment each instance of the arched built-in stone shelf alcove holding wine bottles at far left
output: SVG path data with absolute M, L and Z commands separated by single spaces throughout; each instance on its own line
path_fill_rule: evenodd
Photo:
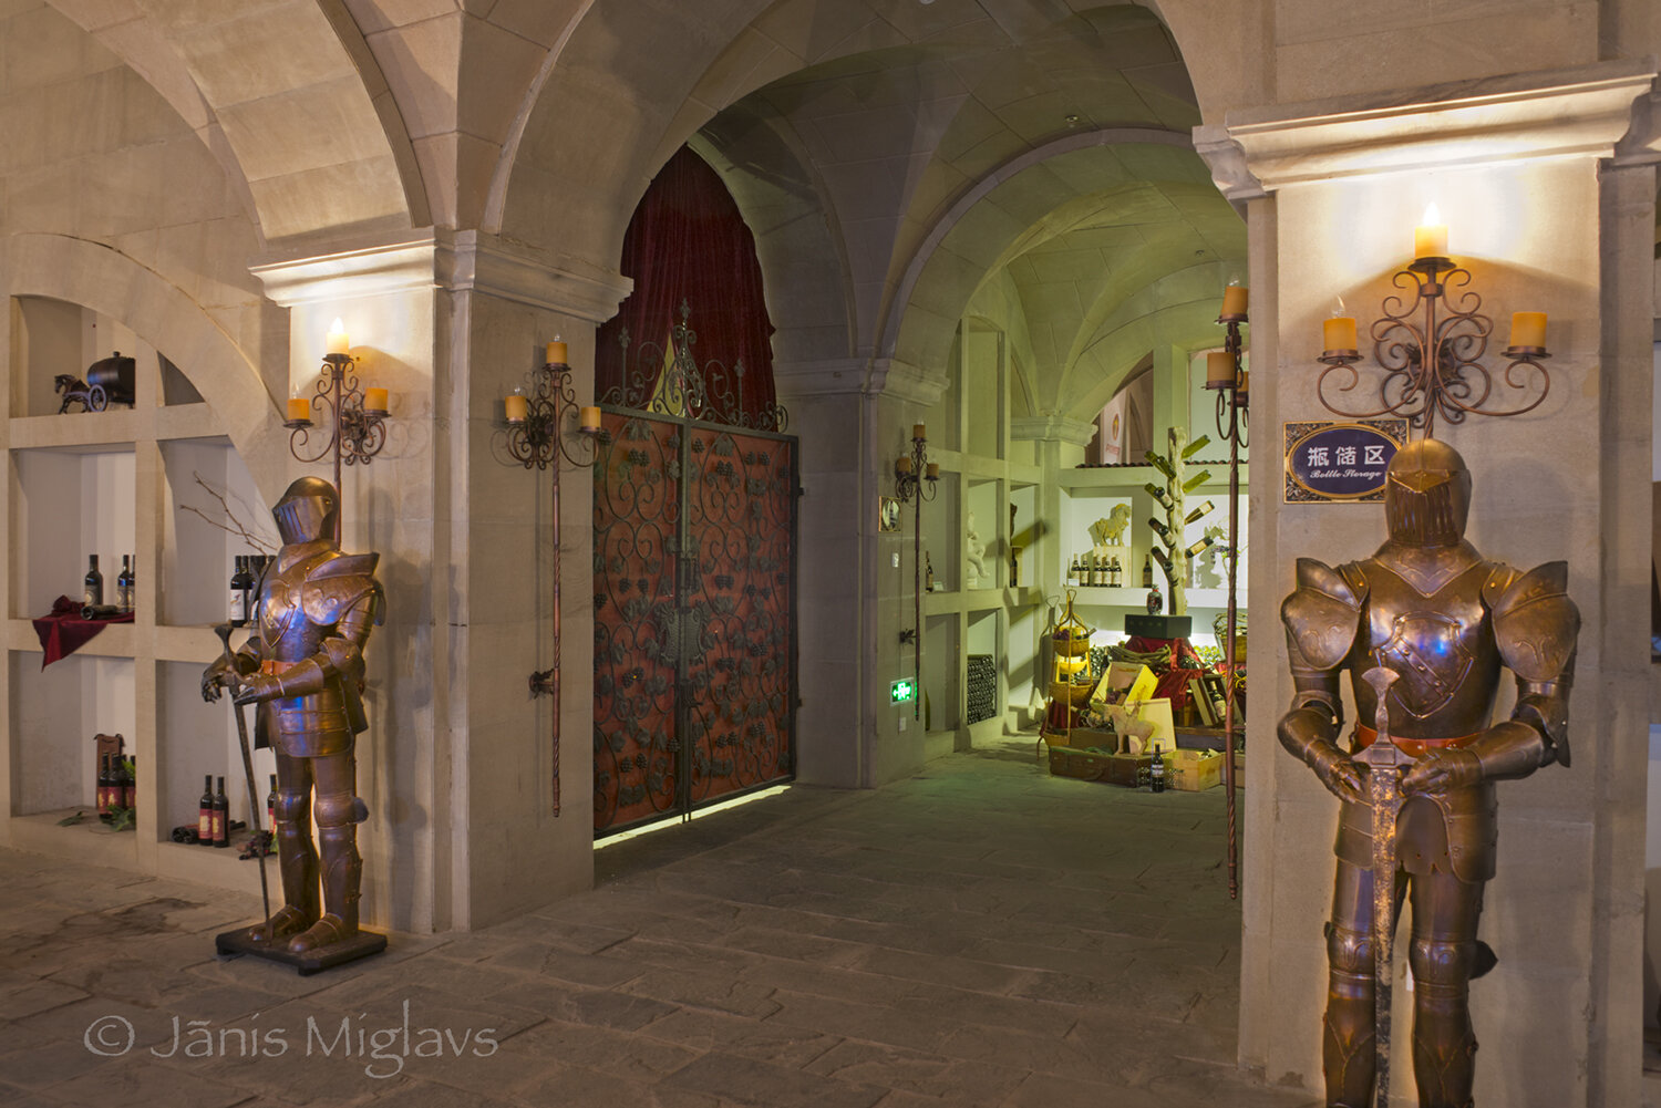
M 256 867 L 238 862 L 236 849 L 176 844 L 171 832 L 194 824 L 203 774 L 226 777 L 231 817 L 247 821 L 229 699 L 206 704 L 201 671 L 223 653 L 213 625 L 226 618 L 233 558 L 254 548 L 203 518 L 219 508 L 198 478 L 274 540 L 269 513 L 219 415 L 163 352 L 120 321 L 60 301 L 13 297 L 12 319 L 10 389 L 0 395 L 12 520 L 0 550 L 8 608 L 0 842 L 138 874 L 257 889 Z M 81 377 L 115 351 L 135 359 L 133 405 L 58 414 L 53 377 Z M 135 620 L 106 626 L 43 669 L 33 618 L 58 595 L 80 598 L 88 553 L 100 555 L 106 603 L 115 600 L 121 556 L 135 556 Z M 100 733 L 121 734 L 135 757 L 133 831 L 111 832 L 96 821 L 93 736 Z M 269 751 L 254 757 L 264 822 L 272 757 Z M 78 811 L 88 812 L 85 822 L 60 826 Z

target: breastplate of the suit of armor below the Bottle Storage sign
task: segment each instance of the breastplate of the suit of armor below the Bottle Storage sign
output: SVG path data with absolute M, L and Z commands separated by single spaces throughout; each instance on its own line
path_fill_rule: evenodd
M 1397 673 L 1389 693 L 1390 734 L 1457 739 L 1483 731 L 1502 664 L 1482 600 L 1482 586 L 1495 566 L 1477 561 L 1430 595 L 1377 558 L 1339 571 L 1367 590 L 1360 635 L 1345 659 L 1355 718 L 1374 719 L 1375 694 L 1360 674 L 1384 666 Z

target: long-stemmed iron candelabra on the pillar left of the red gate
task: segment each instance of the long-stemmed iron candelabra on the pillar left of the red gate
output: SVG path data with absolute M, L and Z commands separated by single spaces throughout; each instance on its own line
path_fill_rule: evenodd
M 565 344 L 548 344 L 548 360 L 530 370 L 525 385 L 503 400 L 508 455 L 527 470 L 553 468 L 553 664 L 530 674 L 532 698 L 553 699 L 553 814 L 560 814 L 560 462 L 571 468 L 595 463 L 600 439 L 600 409 L 578 410 L 571 389 L 571 367 L 565 360 Z M 566 425 L 576 422 L 581 445 L 566 444 Z

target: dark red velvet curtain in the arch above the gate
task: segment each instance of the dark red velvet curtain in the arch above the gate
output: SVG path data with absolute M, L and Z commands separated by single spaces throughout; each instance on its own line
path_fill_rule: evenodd
M 635 209 L 621 269 L 635 291 L 600 327 L 595 395 L 601 402 L 621 397 L 628 407 L 646 407 L 686 304 L 693 360 L 706 387 L 731 395 L 749 417 L 772 407 L 772 321 L 756 239 L 719 174 L 689 148 L 669 158 Z

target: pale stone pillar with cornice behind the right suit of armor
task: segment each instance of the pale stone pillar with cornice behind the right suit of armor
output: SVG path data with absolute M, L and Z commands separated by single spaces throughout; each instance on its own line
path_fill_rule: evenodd
M 1523 568 L 1566 558 L 1585 620 L 1573 767 L 1498 787 L 1482 937 L 1500 963 L 1472 988 L 1485 1047 L 1478 1103 L 1639 1100 L 1649 269 L 1638 254 L 1649 251 L 1654 181 L 1648 166 L 1600 169 L 1600 159 L 1651 78 L 1648 66 L 1610 63 L 1467 83 L 1457 96 L 1437 86 L 1231 113 L 1196 133 L 1219 186 L 1247 204 L 1254 442 L 1279 444 L 1287 420 L 1340 419 L 1314 394 L 1320 321 L 1342 294 L 1365 337 L 1430 201 L 1493 319 L 1490 367 L 1503 370 L 1508 312 L 1551 314 L 1540 409 L 1437 422 L 1473 472 L 1472 542 Z M 1314 1090 L 1337 802 L 1274 736 L 1291 703 L 1276 601 L 1296 556 L 1367 556 L 1384 522 L 1377 505 L 1282 505 L 1277 482 L 1279 467 L 1259 458 L 1239 1057 L 1271 1081 Z M 1405 1012 L 1405 988 L 1397 1002 Z M 1395 1028 L 1405 1101 L 1409 1022 Z

